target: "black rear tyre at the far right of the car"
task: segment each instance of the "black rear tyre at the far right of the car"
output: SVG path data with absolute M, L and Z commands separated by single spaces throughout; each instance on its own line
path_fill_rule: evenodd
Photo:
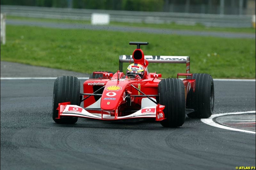
M 189 76 L 188 79 L 191 79 Z M 214 107 L 214 84 L 212 76 L 204 73 L 193 74 L 192 79 L 196 79 L 196 91 L 192 89 L 188 92 L 187 108 L 194 109 L 189 113 L 191 118 L 208 118 L 212 115 Z

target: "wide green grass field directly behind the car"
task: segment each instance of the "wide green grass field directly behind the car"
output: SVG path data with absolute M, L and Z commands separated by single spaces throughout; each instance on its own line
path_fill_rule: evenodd
M 193 73 L 213 78 L 255 78 L 255 39 L 53 29 L 7 25 L 1 61 L 91 73 L 116 71 L 118 56 L 131 55 L 129 41 L 148 41 L 145 55 L 190 55 Z M 124 64 L 124 68 L 129 63 Z M 150 72 L 176 77 L 186 64 L 150 63 Z

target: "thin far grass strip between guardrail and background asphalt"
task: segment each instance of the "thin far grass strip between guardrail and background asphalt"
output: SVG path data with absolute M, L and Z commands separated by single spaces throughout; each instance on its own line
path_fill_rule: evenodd
M 90 24 L 91 23 L 90 21 L 85 21 L 85 20 L 28 18 L 28 17 L 17 17 L 17 16 L 7 16 L 7 19 L 31 20 L 31 21 L 37 21 L 37 22 L 57 22 L 57 23 L 80 23 L 80 24 Z M 174 29 L 174 30 L 255 33 L 255 28 L 206 27 L 206 26 L 203 26 L 201 24 L 196 24 L 195 26 L 189 26 L 189 25 L 178 25 L 178 24 L 175 24 L 175 23 L 170 23 L 170 24 L 146 24 L 146 23 L 110 22 L 110 25 L 113 25 L 113 26 L 131 26 L 131 27 L 150 27 L 150 28 Z

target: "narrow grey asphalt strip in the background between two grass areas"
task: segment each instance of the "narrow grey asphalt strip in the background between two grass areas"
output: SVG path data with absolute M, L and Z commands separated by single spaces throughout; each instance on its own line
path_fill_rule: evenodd
M 228 32 L 208 32 L 208 31 L 190 31 L 190 30 L 171 30 L 148 27 L 130 27 L 130 26 L 93 26 L 90 24 L 69 24 L 69 23 L 54 23 L 54 22 L 37 22 L 27 20 L 11 20 L 6 21 L 7 25 L 26 25 L 40 26 L 62 29 L 89 29 L 89 30 L 106 30 L 120 32 L 139 32 L 139 33 L 154 33 L 154 34 L 177 34 L 177 35 L 196 35 L 196 36 L 212 36 L 224 38 L 252 38 L 255 39 L 255 33 L 228 33 Z

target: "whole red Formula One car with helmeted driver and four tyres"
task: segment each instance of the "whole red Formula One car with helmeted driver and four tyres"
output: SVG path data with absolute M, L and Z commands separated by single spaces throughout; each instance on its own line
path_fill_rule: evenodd
M 130 45 L 137 45 L 137 49 L 132 56 L 119 56 L 119 71 L 93 72 L 84 81 L 83 93 L 76 77 L 60 76 L 55 80 L 52 118 L 56 123 L 76 123 L 78 117 L 111 121 L 154 118 L 164 127 L 179 127 L 186 114 L 194 118 L 212 115 L 212 76 L 191 74 L 189 56 L 144 56 L 140 45 L 148 42 Z M 134 64 L 123 72 L 124 62 Z M 148 72 L 148 63 L 186 63 L 187 69 L 177 78 L 162 79 L 161 74 Z M 84 106 L 80 107 L 82 102 Z

